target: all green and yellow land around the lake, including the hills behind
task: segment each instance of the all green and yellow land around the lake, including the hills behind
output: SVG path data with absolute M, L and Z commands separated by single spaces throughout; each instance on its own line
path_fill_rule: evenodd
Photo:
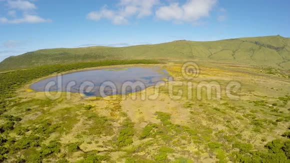
M 289 38 L 266 36 L 9 57 L 0 63 L 0 162 L 289 162 L 289 51 Z M 184 77 L 185 60 L 198 76 Z M 52 100 L 29 89 L 59 73 L 130 66 L 158 66 L 174 80 L 126 98 L 61 92 Z M 236 99 L 226 91 L 232 81 Z M 218 84 L 220 98 L 217 87 L 198 94 L 198 83 Z

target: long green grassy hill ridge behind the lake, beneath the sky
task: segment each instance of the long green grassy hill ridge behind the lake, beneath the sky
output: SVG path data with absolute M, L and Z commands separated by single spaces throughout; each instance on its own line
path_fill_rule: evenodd
M 217 41 L 177 40 L 128 47 L 91 46 L 41 49 L 10 56 L 0 62 L 0 69 L 105 59 L 193 59 L 279 66 L 290 69 L 290 38 L 276 35 Z

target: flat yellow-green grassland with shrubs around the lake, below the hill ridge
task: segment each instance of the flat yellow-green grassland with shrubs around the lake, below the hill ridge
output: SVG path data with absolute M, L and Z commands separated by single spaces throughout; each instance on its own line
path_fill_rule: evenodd
M 148 60 L 127 63 L 139 62 L 154 63 Z M 141 100 L 142 92 L 130 93 L 124 99 L 121 96 L 83 99 L 76 93 L 67 99 L 63 92 L 60 98 L 50 100 L 43 92 L 24 89 L 32 79 L 96 63 L 21 77 L 23 81 L 12 84 L 9 91 L 2 90 L 10 95 L 3 96 L 5 110 L 0 115 L 0 159 L 4 162 L 288 162 L 290 73 L 227 63 L 198 64 L 200 74 L 188 80 L 183 78 L 182 65 L 178 62 L 155 63 L 174 77 L 170 83 L 216 81 L 224 90 L 229 81 L 238 81 L 239 99 L 229 99 L 222 91 L 220 100 L 204 96 L 199 100 L 196 93 L 190 99 L 185 93 L 173 100 L 167 87 L 161 86 L 154 100 Z M 13 71 L 0 75 L 12 73 L 21 74 Z M 32 74 L 36 75 L 34 71 Z M 174 92 L 177 90 L 188 91 L 186 86 L 177 86 Z M 195 92 L 196 87 L 192 90 Z M 154 89 L 143 91 L 149 96 Z M 133 100 L 131 96 L 135 94 L 138 98 Z

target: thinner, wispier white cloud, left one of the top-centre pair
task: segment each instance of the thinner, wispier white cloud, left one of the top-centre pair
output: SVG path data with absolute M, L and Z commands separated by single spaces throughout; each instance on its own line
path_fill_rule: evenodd
M 98 21 L 102 18 L 109 19 L 113 24 L 126 24 L 128 18 L 136 16 L 141 18 L 152 14 L 152 7 L 159 0 L 120 0 L 116 10 L 107 9 L 106 6 L 98 11 L 91 11 L 87 19 Z

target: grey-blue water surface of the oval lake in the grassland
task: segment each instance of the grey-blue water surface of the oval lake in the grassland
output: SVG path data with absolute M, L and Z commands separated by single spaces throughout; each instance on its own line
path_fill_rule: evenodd
M 49 77 L 30 85 L 31 89 L 36 91 L 70 91 L 70 92 L 82 92 L 87 96 L 100 96 L 100 86 L 104 85 L 105 81 L 109 81 L 115 85 L 115 89 L 112 86 L 105 86 L 103 92 L 105 95 L 112 95 L 115 91 L 116 94 L 121 94 L 121 86 L 126 81 L 142 82 L 144 87 L 155 85 L 158 81 L 162 81 L 162 78 L 167 77 L 168 72 L 160 67 L 122 67 L 122 68 L 110 68 L 110 69 L 94 69 L 84 70 L 78 72 L 72 72 L 64 74 L 60 78 L 57 76 Z M 49 83 L 55 83 L 53 85 Z M 73 85 L 67 88 L 67 85 L 73 82 Z M 138 83 L 140 83 L 138 82 Z M 83 86 L 88 84 L 87 86 Z M 108 83 L 108 82 L 105 82 Z M 132 84 L 129 84 L 130 86 Z M 46 88 L 45 88 L 46 86 Z M 127 86 L 125 93 L 139 91 L 143 89 L 141 86 L 137 86 L 136 90 Z M 47 89 L 48 87 L 48 89 Z

